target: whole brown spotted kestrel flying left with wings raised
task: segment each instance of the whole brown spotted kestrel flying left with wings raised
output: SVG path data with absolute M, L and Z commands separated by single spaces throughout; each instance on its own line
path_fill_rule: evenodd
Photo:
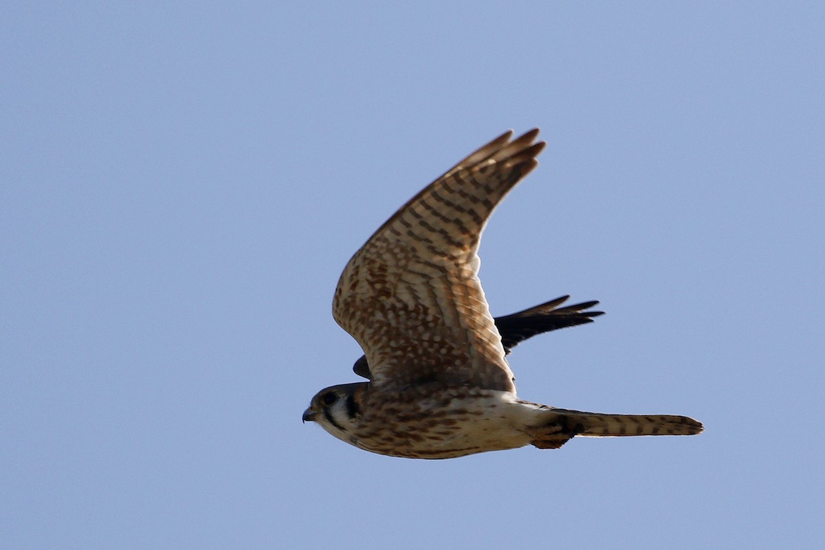
M 577 304 L 557 310 L 568 310 L 573 322 L 540 326 L 536 318 L 553 318 L 561 302 L 496 320 L 484 298 L 481 233 L 497 204 L 537 165 L 545 145 L 534 143 L 538 134 L 532 129 L 511 140 L 510 131 L 479 148 L 404 204 L 352 256 L 332 315 L 364 350 L 354 369 L 369 382 L 321 390 L 304 421 L 360 449 L 406 458 L 528 444 L 558 449 L 575 435 L 700 433 L 700 422 L 687 416 L 573 411 L 516 397 L 505 360 L 512 346 L 601 313 L 582 312 L 595 302 Z

